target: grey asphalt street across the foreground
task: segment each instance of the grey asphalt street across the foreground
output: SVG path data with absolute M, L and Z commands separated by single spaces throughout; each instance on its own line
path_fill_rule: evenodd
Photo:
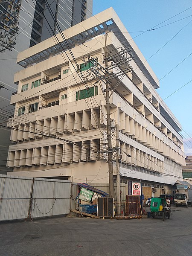
M 41 218 L 0 223 L 0 256 L 192 256 L 192 207 L 142 220 Z

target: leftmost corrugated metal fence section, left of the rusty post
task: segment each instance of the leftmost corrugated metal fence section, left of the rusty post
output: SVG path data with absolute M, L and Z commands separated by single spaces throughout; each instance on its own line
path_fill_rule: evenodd
M 0 221 L 28 217 L 32 178 L 0 175 Z

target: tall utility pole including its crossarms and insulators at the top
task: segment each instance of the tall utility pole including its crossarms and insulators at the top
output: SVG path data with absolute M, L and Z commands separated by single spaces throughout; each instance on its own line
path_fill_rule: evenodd
M 120 49 L 120 51 L 118 51 Z M 110 52 L 110 53 L 108 53 Z M 107 107 L 107 140 L 108 140 L 108 150 L 106 153 L 108 154 L 108 171 L 109 171 L 109 193 L 111 198 L 114 198 L 114 183 L 113 183 L 113 152 L 116 151 L 117 147 L 112 148 L 111 143 L 111 118 L 110 118 L 110 97 L 113 92 L 119 85 L 119 81 L 116 84 L 112 84 L 113 79 L 117 79 L 119 76 L 125 75 L 133 70 L 132 66 L 129 64 L 129 61 L 132 60 L 131 57 L 131 48 L 128 47 L 126 49 L 122 47 L 118 47 L 113 50 L 113 53 L 108 50 L 108 32 L 105 32 L 105 47 L 104 47 L 104 57 L 102 64 L 105 64 L 103 67 L 96 59 L 91 58 L 93 66 L 90 68 L 90 72 L 88 72 L 86 79 L 89 76 L 93 76 L 94 78 L 100 79 L 104 84 L 105 88 L 103 93 L 106 92 L 105 100 Z M 111 64 L 108 66 L 108 62 Z M 113 69 L 119 70 L 117 73 L 113 73 Z M 113 82 L 114 83 L 114 82 Z M 109 95 L 109 92 L 111 94 Z M 119 182 L 120 184 L 120 182 Z M 119 185 L 120 186 L 120 185 Z M 120 195 L 120 194 L 119 194 Z M 120 203 L 119 203 L 120 206 Z

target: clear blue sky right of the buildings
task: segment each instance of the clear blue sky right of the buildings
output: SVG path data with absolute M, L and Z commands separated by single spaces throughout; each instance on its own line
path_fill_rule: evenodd
M 93 0 L 93 15 L 109 7 L 160 80 L 157 93 L 182 126 L 185 155 L 192 155 L 192 0 Z

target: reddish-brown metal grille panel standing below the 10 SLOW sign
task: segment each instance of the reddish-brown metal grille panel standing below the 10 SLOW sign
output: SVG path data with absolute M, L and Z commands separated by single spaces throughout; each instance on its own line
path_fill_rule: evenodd
M 140 196 L 138 195 L 126 195 L 126 215 L 141 215 Z

